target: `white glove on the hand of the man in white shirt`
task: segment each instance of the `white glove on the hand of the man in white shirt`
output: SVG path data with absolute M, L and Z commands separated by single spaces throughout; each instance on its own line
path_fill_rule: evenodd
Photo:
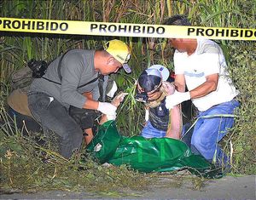
M 173 106 L 176 106 L 182 103 L 183 101 L 190 100 L 190 99 L 191 97 L 189 92 L 180 93 L 175 91 L 174 94 L 166 96 L 166 108 L 170 110 L 173 108 Z

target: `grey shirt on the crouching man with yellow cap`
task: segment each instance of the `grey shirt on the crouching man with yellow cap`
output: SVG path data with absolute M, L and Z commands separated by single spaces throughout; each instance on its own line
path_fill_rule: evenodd
M 67 108 L 69 106 L 82 108 L 87 100 L 82 95 L 84 92 L 91 92 L 93 100 L 98 100 L 100 97 L 98 80 L 79 88 L 79 86 L 89 83 L 98 76 L 98 72 L 94 68 L 94 54 L 95 50 L 73 49 L 68 51 L 61 61 L 61 80 L 58 74 L 61 56 L 57 57 L 49 64 L 44 75 L 44 77 L 56 83 L 49 82 L 44 78 L 35 78 L 30 91 L 49 94 L 49 96 L 54 97 L 55 100 L 58 100 Z M 61 85 L 57 83 L 61 83 Z M 105 76 L 103 84 L 104 93 L 107 83 L 108 76 Z

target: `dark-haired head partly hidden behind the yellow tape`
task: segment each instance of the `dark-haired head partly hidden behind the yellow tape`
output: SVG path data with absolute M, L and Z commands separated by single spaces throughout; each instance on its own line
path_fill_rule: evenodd
M 188 18 L 184 15 L 179 14 L 173 15 L 172 17 L 168 18 L 164 22 L 164 24 L 170 26 L 191 26 L 191 23 L 189 22 Z M 193 39 L 169 38 L 168 42 L 172 45 L 174 49 L 177 49 L 179 52 L 188 52 L 188 49 L 190 49 L 189 46 L 193 42 Z

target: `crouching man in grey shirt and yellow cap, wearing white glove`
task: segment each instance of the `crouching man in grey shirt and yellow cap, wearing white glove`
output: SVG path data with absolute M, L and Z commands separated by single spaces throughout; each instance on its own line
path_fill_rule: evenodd
M 81 113 L 100 111 L 114 116 L 116 107 L 103 102 L 104 98 L 99 101 L 100 93 L 105 96 L 108 74 L 121 67 L 131 72 L 127 65 L 129 59 L 127 45 L 111 40 L 104 49 L 68 51 L 49 64 L 43 77 L 33 80 L 28 92 L 29 109 L 45 131 L 51 130 L 59 136 L 63 157 L 69 158 L 74 150 L 79 150 L 83 129 L 86 134 L 92 134 L 91 120 L 86 121 L 88 117 L 84 117 L 85 122 L 79 123 L 69 114 L 69 108 L 80 109 Z M 104 77 L 99 79 L 99 75 Z M 102 89 L 98 87 L 99 81 L 103 82 Z

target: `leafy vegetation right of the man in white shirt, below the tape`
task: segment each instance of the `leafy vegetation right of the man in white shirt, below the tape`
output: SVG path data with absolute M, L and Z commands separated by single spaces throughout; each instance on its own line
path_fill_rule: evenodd
M 231 77 L 240 89 L 238 99 L 241 102 L 239 117 L 236 126 L 226 137 L 226 147 L 234 148 L 234 166 L 243 174 L 256 174 L 255 149 L 256 149 L 256 54 L 255 42 L 230 43 Z

